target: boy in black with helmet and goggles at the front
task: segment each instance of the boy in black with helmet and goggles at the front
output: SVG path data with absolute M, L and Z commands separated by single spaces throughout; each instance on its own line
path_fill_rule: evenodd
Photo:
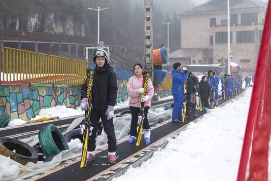
M 93 85 L 92 85 L 92 110 L 90 114 L 92 134 L 89 137 L 87 161 L 95 160 L 96 132 L 100 118 L 102 119 L 103 129 L 107 135 L 108 144 L 108 161 L 116 162 L 117 139 L 113 124 L 114 106 L 117 99 L 117 76 L 113 68 L 107 64 L 108 56 L 106 51 L 98 49 L 93 54 L 93 60 L 96 64 Z M 82 85 L 81 90 L 81 109 L 90 108 L 87 100 L 87 83 Z

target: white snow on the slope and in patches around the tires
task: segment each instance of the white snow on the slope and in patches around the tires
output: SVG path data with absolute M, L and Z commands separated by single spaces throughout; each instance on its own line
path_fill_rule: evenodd
M 169 139 L 168 145 L 156 151 L 152 158 L 139 167 L 130 167 L 125 174 L 112 181 L 138 181 L 142 178 L 150 181 L 236 180 L 252 90 L 253 87 L 249 87 L 243 95 L 225 106 L 209 109 L 203 118 L 196 123 L 190 123 L 175 139 Z M 126 106 L 128 101 L 116 105 L 115 109 Z M 74 115 L 82 114 L 79 108 L 68 111 L 67 108 L 60 106 L 44 110 L 41 115 L 64 117 L 67 116 L 67 112 Z M 19 119 L 13 121 L 20 122 Z M 68 145 L 78 157 L 82 146 L 80 141 L 75 139 Z M 52 161 L 51 168 L 60 164 L 59 160 L 70 158 L 65 151 L 61 154 Z M 34 165 L 40 167 L 42 173 L 43 166 L 38 166 L 39 163 Z M 18 167 L 21 170 L 24 168 L 0 155 L 0 181 L 6 175 L 17 175 Z

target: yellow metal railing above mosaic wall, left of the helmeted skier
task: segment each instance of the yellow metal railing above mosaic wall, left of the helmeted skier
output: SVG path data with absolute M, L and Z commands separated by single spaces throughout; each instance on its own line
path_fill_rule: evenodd
M 85 81 L 88 62 L 1 47 L 1 82 L 79 85 Z

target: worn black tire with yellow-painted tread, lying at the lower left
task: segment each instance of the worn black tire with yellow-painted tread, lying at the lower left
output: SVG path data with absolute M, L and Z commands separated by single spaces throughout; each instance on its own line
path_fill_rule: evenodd
M 13 152 L 13 150 L 16 152 Z M 0 154 L 25 165 L 28 162 L 37 163 L 38 154 L 33 147 L 14 138 L 0 138 Z

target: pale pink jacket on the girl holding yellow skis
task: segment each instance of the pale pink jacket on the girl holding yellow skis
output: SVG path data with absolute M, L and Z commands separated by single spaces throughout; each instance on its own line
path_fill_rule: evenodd
M 127 84 L 127 90 L 130 95 L 129 106 L 139 108 L 140 107 L 140 100 L 141 100 L 141 93 L 138 92 L 138 89 L 142 88 L 142 81 L 143 76 L 140 78 L 136 78 L 136 76 L 132 76 Z M 150 96 L 150 99 L 146 101 L 145 106 L 151 107 L 151 98 L 154 94 L 154 88 L 152 86 L 151 79 L 148 81 L 148 87 L 146 96 Z

